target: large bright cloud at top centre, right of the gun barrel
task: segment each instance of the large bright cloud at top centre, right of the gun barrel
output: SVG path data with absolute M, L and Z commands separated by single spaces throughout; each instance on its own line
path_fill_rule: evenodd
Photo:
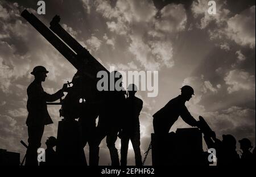
M 185 29 L 187 16 L 183 5 L 167 5 L 155 18 L 156 9 L 150 1 L 117 1 L 115 7 L 108 1 L 95 4 L 96 11 L 110 20 L 106 25 L 111 32 L 129 37 L 129 50 L 144 69 L 174 66 L 170 39 Z

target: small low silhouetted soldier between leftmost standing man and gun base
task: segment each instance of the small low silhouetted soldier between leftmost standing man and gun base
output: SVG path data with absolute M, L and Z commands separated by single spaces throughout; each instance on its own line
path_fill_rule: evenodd
M 40 162 L 40 166 L 54 166 L 57 165 L 57 154 L 53 149 L 57 144 L 55 137 L 51 136 L 46 140 L 46 162 Z

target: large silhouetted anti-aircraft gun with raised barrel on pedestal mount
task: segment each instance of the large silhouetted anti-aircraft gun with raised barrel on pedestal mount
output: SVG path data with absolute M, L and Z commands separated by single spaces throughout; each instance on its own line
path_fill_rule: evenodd
M 81 158 L 84 156 L 84 151 L 81 149 L 79 128 L 75 121 L 82 109 L 82 104 L 79 104 L 80 100 L 82 103 L 86 100 L 86 102 L 96 103 L 98 107 L 104 107 L 106 103 L 118 102 L 118 96 L 125 96 L 125 92 L 121 91 L 117 94 L 97 90 L 97 82 L 101 79 L 97 78 L 98 71 L 110 73 L 61 27 L 60 16 L 56 15 L 52 19 L 49 28 L 27 10 L 24 10 L 21 16 L 77 69 L 72 80 L 73 86 L 69 88 L 64 100 L 60 103 L 53 103 L 62 105 L 60 115 L 64 117 L 64 120 L 59 122 L 56 152 L 60 156 L 61 163 L 84 164 L 85 158 Z

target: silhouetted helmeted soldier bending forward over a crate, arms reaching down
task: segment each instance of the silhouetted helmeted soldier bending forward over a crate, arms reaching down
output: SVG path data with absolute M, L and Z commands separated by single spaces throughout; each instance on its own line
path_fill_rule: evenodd
M 191 116 L 185 102 L 189 101 L 194 95 L 194 90 L 191 86 L 183 86 L 181 89 L 181 95 L 166 104 L 162 109 L 156 112 L 153 117 L 154 128 L 154 141 L 152 142 L 152 149 L 154 149 L 154 165 L 166 165 L 168 159 L 165 152 L 168 151 L 166 147 L 166 140 L 170 140 L 168 132 L 174 125 L 175 121 L 181 116 L 185 123 L 192 127 L 197 126 L 197 121 Z M 174 139 L 174 136 L 171 136 Z

